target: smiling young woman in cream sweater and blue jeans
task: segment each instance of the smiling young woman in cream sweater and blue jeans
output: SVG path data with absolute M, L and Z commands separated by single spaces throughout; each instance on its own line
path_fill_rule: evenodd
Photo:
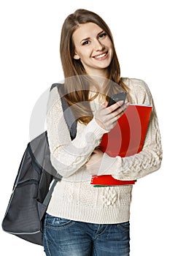
M 63 176 L 55 186 L 44 227 L 46 255 L 127 256 L 132 186 L 93 187 L 92 174 L 134 180 L 161 166 L 161 136 L 152 96 L 142 80 L 120 78 L 111 31 L 96 13 L 77 10 L 61 31 L 64 84 L 50 92 L 47 135 L 51 162 Z M 107 108 L 110 95 L 127 91 L 125 104 Z M 62 94 L 62 95 L 61 95 Z M 77 119 L 72 140 L 61 96 Z M 98 148 L 128 102 L 152 105 L 144 146 L 131 157 L 109 157 Z

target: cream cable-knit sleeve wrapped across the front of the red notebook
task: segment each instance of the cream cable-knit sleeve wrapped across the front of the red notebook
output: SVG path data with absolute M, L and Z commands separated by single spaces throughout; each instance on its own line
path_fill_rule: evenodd
M 140 97 L 141 101 L 139 100 Z M 140 89 L 138 87 L 138 91 L 136 91 L 136 99 L 138 99 L 138 102 L 134 103 L 152 105 L 150 124 L 142 151 L 131 157 L 109 157 L 104 154 L 98 175 L 111 174 L 119 180 L 134 180 L 142 178 L 161 167 L 162 147 L 158 118 L 150 90 L 142 80 L 140 80 Z

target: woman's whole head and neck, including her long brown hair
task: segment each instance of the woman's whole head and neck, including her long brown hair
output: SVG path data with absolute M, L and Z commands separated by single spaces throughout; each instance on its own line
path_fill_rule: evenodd
M 88 104 L 89 89 L 96 91 L 99 88 L 104 95 L 112 95 L 116 92 L 115 86 L 112 86 L 114 81 L 120 85 L 119 90 L 128 92 L 128 86 L 120 78 L 120 64 L 112 33 L 107 23 L 96 13 L 77 10 L 66 18 L 61 30 L 60 51 L 64 77 L 69 78 L 64 83 L 65 89 L 69 88 L 69 94 L 65 91 L 63 95 L 74 108 L 79 121 L 88 124 L 93 117 Z M 92 75 L 96 77 L 93 82 Z M 86 106 L 75 105 L 77 102 L 86 102 Z

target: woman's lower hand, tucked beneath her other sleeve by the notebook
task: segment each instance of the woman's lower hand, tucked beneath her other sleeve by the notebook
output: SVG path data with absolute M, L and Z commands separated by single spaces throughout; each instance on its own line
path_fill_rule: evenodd
M 98 174 L 98 170 L 100 168 L 101 165 L 101 159 L 103 157 L 103 152 L 96 148 L 93 153 L 91 154 L 90 159 L 88 160 L 88 162 L 86 162 L 85 167 L 86 170 L 88 171 L 88 173 L 90 173 L 91 175 L 97 175 Z

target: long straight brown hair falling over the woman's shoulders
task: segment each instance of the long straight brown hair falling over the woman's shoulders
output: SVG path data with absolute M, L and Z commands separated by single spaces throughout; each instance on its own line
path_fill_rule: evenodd
M 101 29 L 103 29 L 112 41 L 113 58 L 107 68 L 107 86 L 104 86 L 107 90 L 104 91 L 104 94 L 110 95 L 114 91 L 112 81 L 120 85 L 123 90 L 128 91 L 127 86 L 125 86 L 120 78 L 120 64 L 117 59 L 112 33 L 107 26 L 107 23 L 105 23 L 104 20 L 95 12 L 82 9 L 76 10 L 74 13 L 69 15 L 63 23 L 61 30 L 60 53 L 65 78 L 63 86 L 64 97 L 69 105 L 72 105 L 72 109 L 77 120 L 84 124 L 88 124 L 88 122 L 93 118 L 93 113 L 90 110 L 89 103 L 89 88 L 90 84 L 94 84 L 95 82 L 93 78 L 86 74 L 81 61 L 74 59 L 75 46 L 72 34 L 80 24 L 90 22 L 96 23 Z M 85 104 L 83 104 L 83 102 Z

